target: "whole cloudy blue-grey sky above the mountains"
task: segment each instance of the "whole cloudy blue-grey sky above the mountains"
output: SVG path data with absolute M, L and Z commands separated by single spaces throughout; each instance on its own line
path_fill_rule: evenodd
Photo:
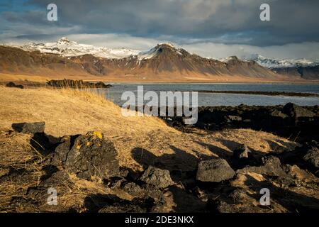
M 58 21 L 47 21 L 47 4 Z M 261 21 L 259 6 L 270 6 Z M 62 36 L 108 48 L 172 42 L 205 57 L 319 59 L 317 0 L 1 0 L 0 43 Z

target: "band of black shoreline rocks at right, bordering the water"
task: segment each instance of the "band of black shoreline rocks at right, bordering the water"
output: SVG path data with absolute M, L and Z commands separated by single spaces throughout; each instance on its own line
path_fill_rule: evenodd
M 165 118 L 167 123 L 183 128 L 184 118 Z M 187 126 L 189 127 L 189 126 Z M 319 140 L 319 106 L 207 106 L 198 107 L 196 128 L 218 131 L 224 128 L 252 128 L 276 133 L 297 141 Z

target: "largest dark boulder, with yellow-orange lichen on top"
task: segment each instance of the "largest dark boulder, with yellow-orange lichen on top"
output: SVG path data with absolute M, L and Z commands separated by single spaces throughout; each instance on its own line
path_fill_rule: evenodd
M 55 149 L 53 164 L 60 162 L 67 172 L 83 179 L 108 179 L 118 175 L 118 153 L 102 133 L 89 132 L 73 139 L 63 138 Z

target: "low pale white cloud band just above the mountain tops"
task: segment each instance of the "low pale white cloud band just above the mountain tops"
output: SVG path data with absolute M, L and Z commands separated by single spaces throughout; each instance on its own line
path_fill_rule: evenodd
M 52 34 L 53 35 L 53 34 Z M 171 36 L 162 36 L 159 38 L 141 38 L 131 35 L 119 34 L 72 34 L 67 35 L 69 40 L 77 41 L 96 46 L 107 48 L 130 48 L 133 50 L 149 50 L 158 43 L 174 40 Z M 57 39 L 57 37 L 55 37 Z M 50 35 L 47 40 L 52 41 Z M 46 40 L 46 41 L 47 41 Z M 0 34 L 0 43 L 26 43 L 30 41 L 45 42 L 45 40 L 30 40 L 30 39 L 12 39 L 9 35 Z M 193 42 L 193 43 L 191 43 Z M 319 43 L 289 43 L 286 45 L 274 45 L 267 47 L 258 47 L 254 45 L 239 45 L 239 44 L 223 44 L 207 42 L 201 39 L 177 39 L 173 42 L 177 48 L 196 53 L 203 57 L 223 58 L 236 55 L 238 57 L 252 54 L 263 55 L 264 57 L 274 57 L 279 59 L 298 59 L 307 58 L 310 60 L 319 59 Z

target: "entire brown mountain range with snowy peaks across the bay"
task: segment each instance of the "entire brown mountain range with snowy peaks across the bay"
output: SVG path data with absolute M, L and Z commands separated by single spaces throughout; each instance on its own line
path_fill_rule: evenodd
M 144 52 L 84 45 L 67 38 L 57 43 L 0 46 L 0 72 L 51 77 L 82 75 L 88 79 L 95 76 L 123 81 L 286 81 L 319 79 L 318 65 L 306 60 L 271 60 L 259 55 L 215 60 L 191 54 L 171 43 L 159 43 Z M 314 73 L 313 69 L 317 71 Z

